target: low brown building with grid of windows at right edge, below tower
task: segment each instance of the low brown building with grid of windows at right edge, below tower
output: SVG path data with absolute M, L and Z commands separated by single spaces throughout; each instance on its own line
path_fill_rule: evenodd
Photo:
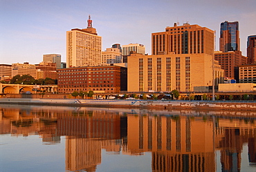
M 256 84 L 256 64 L 239 66 L 239 82 Z

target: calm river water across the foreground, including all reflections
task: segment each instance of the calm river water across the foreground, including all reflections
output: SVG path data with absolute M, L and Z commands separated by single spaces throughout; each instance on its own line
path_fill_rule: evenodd
M 256 112 L 0 104 L 0 171 L 256 171 Z

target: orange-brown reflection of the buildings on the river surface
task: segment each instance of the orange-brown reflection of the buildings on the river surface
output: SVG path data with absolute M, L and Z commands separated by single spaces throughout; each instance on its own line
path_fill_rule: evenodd
M 221 171 L 241 171 L 244 144 L 246 163 L 255 168 L 255 112 L 0 107 L 1 135 L 39 135 L 44 144 L 66 136 L 66 171 L 97 171 L 102 149 L 114 155 L 151 152 L 152 171 L 218 171 L 218 163 Z

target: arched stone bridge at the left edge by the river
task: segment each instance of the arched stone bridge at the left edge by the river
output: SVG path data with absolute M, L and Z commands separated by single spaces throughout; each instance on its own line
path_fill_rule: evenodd
M 57 92 L 57 85 L 26 85 L 0 83 L 0 94 L 36 93 L 38 90 L 48 93 Z

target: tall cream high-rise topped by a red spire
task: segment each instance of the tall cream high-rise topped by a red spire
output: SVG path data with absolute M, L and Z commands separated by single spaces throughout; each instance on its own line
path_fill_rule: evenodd
M 66 67 L 99 66 L 101 63 L 102 40 L 92 26 L 89 16 L 88 26 L 66 32 Z

